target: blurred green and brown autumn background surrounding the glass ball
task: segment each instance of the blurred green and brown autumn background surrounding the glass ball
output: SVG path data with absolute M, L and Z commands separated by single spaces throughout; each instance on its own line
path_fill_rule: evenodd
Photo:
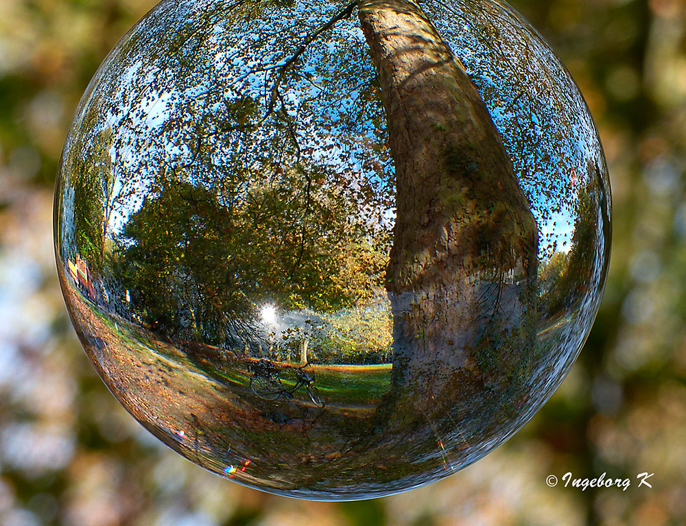
M 0 526 L 686 523 L 686 1 L 517 0 L 606 149 L 613 259 L 569 376 L 477 464 L 394 497 L 243 488 L 148 435 L 97 378 L 59 291 L 52 196 L 95 69 L 154 0 L 0 0 Z M 631 479 L 550 488 L 547 475 Z M 652 488 L 637 474 L 654 473 Z

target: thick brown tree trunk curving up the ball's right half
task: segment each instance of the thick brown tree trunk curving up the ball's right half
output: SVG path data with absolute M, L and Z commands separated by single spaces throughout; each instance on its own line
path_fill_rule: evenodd
M 536 222 L 484 101 L 423 10 L 362 0 L 359 20 L 397 178 L 390 398 L 426 415 L 460 401 L 445 389 L 460 370 L 488 379 L 532 351 Z

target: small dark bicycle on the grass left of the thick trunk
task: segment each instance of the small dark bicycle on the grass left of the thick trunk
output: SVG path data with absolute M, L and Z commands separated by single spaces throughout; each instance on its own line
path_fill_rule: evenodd
M 252 373 L 250 376 L 250 390 L 263 400 L 276 400 L 276 398 L 285 398 L 292 400 L 294 392 L 303 387 L 307 396 L 316 407 L 324 407 L 324 401 L 319 394 L 315 382 L 315 376 L 312 372 L 304 371 L 303 368 L 309 366 L 305 363 L 304 366 L 292 367 L 287 366 L 289 370 L 293 370 L 296 382 L 292 387 L 284 385 L 279 370 L 269 360 L 260 359 L 255 363 L 251 363 L 249 370 Z

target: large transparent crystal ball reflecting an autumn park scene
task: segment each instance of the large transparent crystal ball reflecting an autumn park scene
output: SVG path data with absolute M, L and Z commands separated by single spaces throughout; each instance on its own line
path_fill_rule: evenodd
M 318 500 L 445 477 L 571 367 L 611 241 L 598 132 L 492 0 L 165 0 L 56 188 L 80 340 L 148 431 Z

